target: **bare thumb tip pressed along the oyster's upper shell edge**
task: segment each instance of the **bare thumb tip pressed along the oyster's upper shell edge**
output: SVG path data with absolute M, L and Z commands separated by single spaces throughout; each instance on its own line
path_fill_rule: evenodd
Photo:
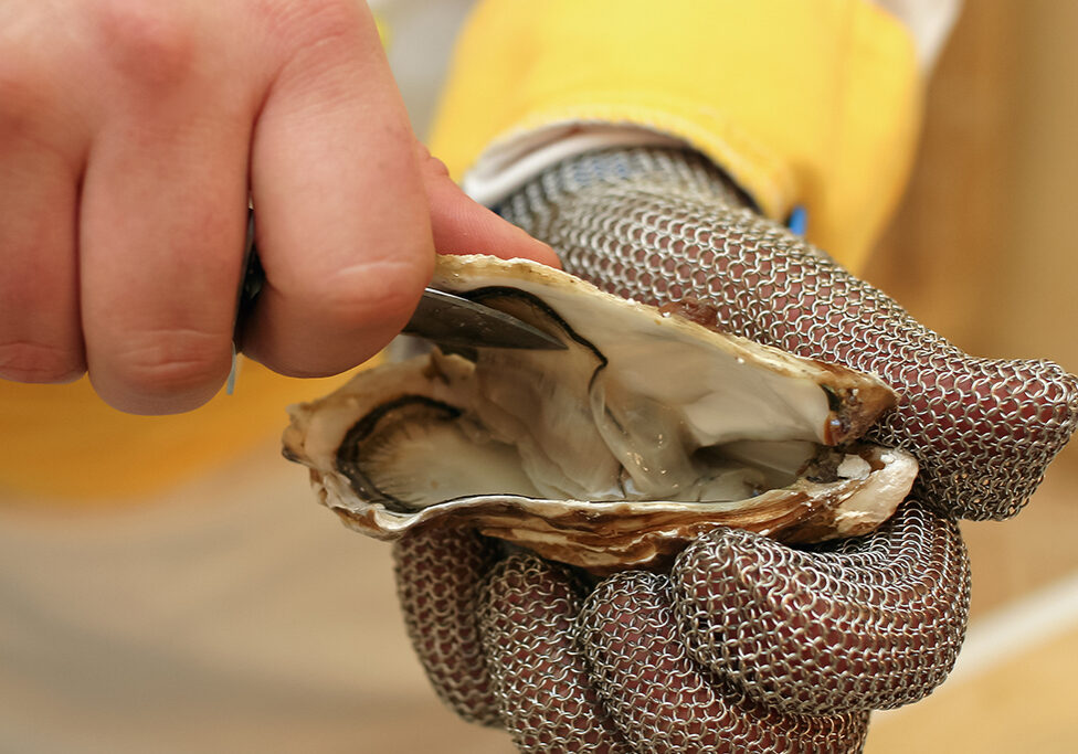
M 445 164 L 419 146 L 420 171 L 431 211 L 434 248 L 438 254 L 492 254 L 524 257 L 561 267 L 554 251 L 472 200 L 450 178 Z

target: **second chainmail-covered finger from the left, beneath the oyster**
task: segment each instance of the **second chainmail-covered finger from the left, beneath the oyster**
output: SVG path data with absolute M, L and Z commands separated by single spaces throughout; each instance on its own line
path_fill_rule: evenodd
M 479 606 L 501 719 L 522 752 L 627 753 L 588 678 L 573 627 L 581 599 L 568 574 L 533 555 L 490 573 Z

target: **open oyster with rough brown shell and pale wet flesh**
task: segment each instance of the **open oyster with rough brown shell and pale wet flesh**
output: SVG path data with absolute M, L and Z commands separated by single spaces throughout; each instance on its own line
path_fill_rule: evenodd
M 912 485 L 912 457 L 855 442 L 895 403 L 875 376 L 524 261 L 443 256 L 432 285 L 568 348 L 435 350 L 293 406 L 285 456 L 359 531 L 465 522 L 605 572 L 660 565 L 717 524 L 864 533 Z

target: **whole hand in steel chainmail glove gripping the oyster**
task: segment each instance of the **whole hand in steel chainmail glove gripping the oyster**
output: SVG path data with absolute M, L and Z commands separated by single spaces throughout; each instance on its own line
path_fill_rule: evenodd
M 870 710 L 953 665 L 969 607 L 954 519 L 1024 505 L 1078 424 L 1078 381 L 966 357 L 687 152 L 574 158 L 501 211 L 606 290 L 700 299 L 729 331 L 880 374 L 901 397 L 870 439 L 921 474 L 867 537 L 794 550 L 719 528 L 669 574 L 598 585 L 471 531 L 415 532 L 398 583 L 435 689 L 521 751 L 859 750 Z

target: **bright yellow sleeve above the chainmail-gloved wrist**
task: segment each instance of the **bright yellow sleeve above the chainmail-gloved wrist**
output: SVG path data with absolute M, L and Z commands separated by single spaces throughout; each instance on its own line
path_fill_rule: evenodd
M 432 151 L 461 178 L 540 127 L 684 139 L 776 220 L 858 267 L 900 195 L 920 123 L 905 26 L 865 0 L 480 0 Z

